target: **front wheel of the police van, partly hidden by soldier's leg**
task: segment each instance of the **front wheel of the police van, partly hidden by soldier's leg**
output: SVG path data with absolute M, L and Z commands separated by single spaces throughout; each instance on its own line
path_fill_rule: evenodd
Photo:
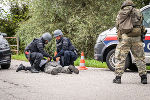
M 111 71 L 115 71 L 115 49 L 112 49 L 108 52 L 106 57 L 106 64 Z M 130 56 L 128 55 L 126 58 L 124 70 L 126 70 L 130 66 L 130 64 Z

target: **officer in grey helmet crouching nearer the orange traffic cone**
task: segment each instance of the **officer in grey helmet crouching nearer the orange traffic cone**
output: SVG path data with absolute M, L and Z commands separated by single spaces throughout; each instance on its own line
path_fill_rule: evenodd
M 79 70 L 74 66 L 77 53 L 70 39 L 63 37 L 62 31 L 59 29 L 54 31 L 54 37 L 56 38 L 57 55 L 53 57 L 53 60 L 56 61 L 56 58 L 60 57 L 60 65 L 62 67 L 69 66 L 68 69 L 70 69 L 71 72 L 78 74 Z

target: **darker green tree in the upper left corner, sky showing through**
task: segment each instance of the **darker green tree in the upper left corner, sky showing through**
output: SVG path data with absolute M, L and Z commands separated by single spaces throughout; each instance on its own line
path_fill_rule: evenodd
M 1 10 L 1 12 L 3 13 L 1 14 L 0 19 L 0 31 L 7 33 L 8 36 L 15 35 L 15 31 L 18 28 L 18 24 L 21 21 L 27 20 L 29 18 L 28 11 L 28 6 L 26 4 L 22 4 L 21 6 L 19 6 L 18 3 L 11 2 L 10 10 Z

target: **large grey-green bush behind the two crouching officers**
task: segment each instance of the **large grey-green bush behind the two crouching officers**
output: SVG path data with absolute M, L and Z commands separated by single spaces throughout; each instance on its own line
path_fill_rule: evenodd
M 28 10 L 22 10 L 27 13 L 16 12 L 19 11 L 16 6 L 12 12 L 17 16 L 13 16 L 12 20 L 19 23 L 15 30 L 21 39 L 21 50 L 44 32 L 52 34 L 54 30 L 61 29 L 79 51 L 84 51 L 87 57 L 93 57 L 98 35 L 115 26 L 116 15 L 123 1 L 31 0 L 29 13 Z M 133 1 L 138 8 L 149 3 L 149 0 Z M 55 39 L 47 46 L 47 50 L 53 54 Z

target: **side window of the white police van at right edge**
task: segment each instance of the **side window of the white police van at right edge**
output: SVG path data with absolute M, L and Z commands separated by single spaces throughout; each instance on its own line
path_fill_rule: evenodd
M 143 25 L 146 28 L 150 28 L 150 8 L 145 9 L 144 11 L 142 11 L 142 13 L 144 17 Z

